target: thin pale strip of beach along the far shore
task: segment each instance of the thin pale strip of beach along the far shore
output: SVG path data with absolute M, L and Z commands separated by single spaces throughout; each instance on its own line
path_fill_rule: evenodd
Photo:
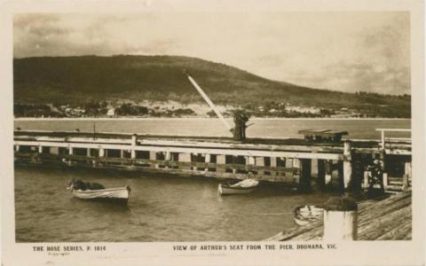
M 135 121 L 135 120 L 145 120 L 145 121 L 170 121 L 170 120 L 212 120 L 218 118 L 209 118 L 209 117 L 63 117 L 63 118 L 39 118 L 39 117 L 18 117 L 14 118 L 13 121 Z M 226 120 L 232 120 L 232 118 L 226 118 Z M 330 118 L 330 117 L 319 117 L 319 118 L 308 118 L 308 117 L 299 117 L 299 118 L 286 118 L 286 117 L 253 117 L 250 121 L 259 121 L 259 120 L 271 120 L 271 121 L 293 121 L 293 120 L 320 120 L 320 121 L 377 121 L 377 120 L 389 120 L 389 121 L 403 121 L 411 120 L 411 118 Z

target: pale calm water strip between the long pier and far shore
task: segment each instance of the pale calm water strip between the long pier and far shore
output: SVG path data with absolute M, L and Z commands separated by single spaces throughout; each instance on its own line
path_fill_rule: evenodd
M 83 120 L 44 120 L 15 121 L 15 128 L 22 130 L 75 130 L 93 132 L 94 121 Z M 304 119 L 253 119 L 248 123 L 248 137 L 300 137 L 300 129 L 335 129 L 346 130 L 351 138 L 379 139 L 377 128 L 409 129 L 411 120 L 304 120 Z M 231 136 L 221 121 L 217 119 L 182 118 L 182 119 L 115 119 L 96 120 L 98 132 L 127 132 L 157 135 L 184 136 Z M 232 121 L 230 121 L 232 124 Z M 391 133 L 391 137 L 409 137 L 407 133 Z

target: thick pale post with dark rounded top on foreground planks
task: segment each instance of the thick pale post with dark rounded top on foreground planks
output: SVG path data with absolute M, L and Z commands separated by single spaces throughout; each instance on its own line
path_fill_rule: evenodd
M 324 205 L 323 240 L 356 240 L 358 231 L 358 206 L 349 197 L 335 197 Z

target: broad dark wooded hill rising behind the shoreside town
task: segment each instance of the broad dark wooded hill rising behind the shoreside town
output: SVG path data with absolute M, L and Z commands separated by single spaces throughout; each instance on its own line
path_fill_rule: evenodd
M 188 70 L 217 104 L 350 108 L 380 117 L 410 117 L 410 97 L 316 90 L 265 79 L 233 66 L 174 56 L 81 56 L 13 59 L 14 102 L 83 103 L 88 100 L 201 102 L 183 74 Z

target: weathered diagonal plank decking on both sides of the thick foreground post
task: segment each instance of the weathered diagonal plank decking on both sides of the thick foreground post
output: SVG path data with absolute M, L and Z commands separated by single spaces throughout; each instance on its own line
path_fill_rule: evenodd
M 366 200 L 358 205 L 357 240 L 411 240 L 411 192 L 385 200 Z M 333 230 L 333 229 L 332 229 Z M 282 231 L 264 241 L 322 240 L 324 223 L 318 222 Z

